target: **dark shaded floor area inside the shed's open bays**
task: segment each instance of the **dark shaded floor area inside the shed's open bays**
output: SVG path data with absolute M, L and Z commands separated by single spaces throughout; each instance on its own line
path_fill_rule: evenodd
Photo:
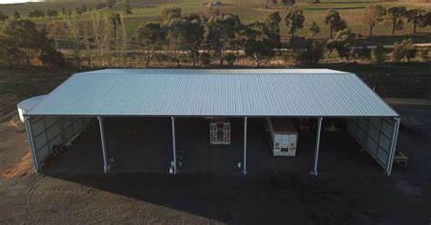
M 231 118 L 232 144 L 209 144 L 209 120 L 176 118 L 176 150 L 183 152 L 179 173 L 241 174 L 236 162 L 243 161 L 244 120 Z M 172 153 L 170 118 L 105 118 L 109 157 L 115 158 L 111 172 L 167 173 Z M 315 156 L 315 132 L 300 133 L 296 157 L 274 157 L 268 147 L 269 134 L 262 118 L 247 122 L 247 172 L 311 171 Z M 319 171 L 381 173 L 383 169 L 348 134 L 331 137 L 322 133 Z M 72 148 L 47 161 L 47 173 L 101 173 L 103 157 L 98 124 L 77 138 Z

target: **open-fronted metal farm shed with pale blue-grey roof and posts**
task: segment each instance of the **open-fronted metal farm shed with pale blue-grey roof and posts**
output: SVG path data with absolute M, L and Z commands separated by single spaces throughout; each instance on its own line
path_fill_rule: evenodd
M 247 118 L 314 118 L 315 175 L 322 121 L 345 118 L 346 131 L 388 175 L 400 122 L 399 115 L 356 74 L 328 69 L 107 69 L 75 73 L 25 109 L 24 117 L 36 171 L 55 144 L 71 142 L 88 123 L 98 121 L 105 172 L 109 171 L 109 146 L 104 118 L 170 118 L 174 173 L 175 118 L 242 118 L 245 174 L 247 166 L 253 166 L 246 164 Z

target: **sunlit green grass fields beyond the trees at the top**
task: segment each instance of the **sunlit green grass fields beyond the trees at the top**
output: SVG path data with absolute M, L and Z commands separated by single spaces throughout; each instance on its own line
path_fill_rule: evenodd
M 27 3 L 19 5 L 0 5 L 6 15 L 12 15 L 15 10 L 21 13 L 22 16 L 26 16 L 29 10 L 34 9 L 57 9 L 61 10 L 63 6 L 74 8 L 85 4 L 88 8 L 95 7 L 97 0 L 51 0 L 46 3 Z M 126 30 L 128 34 L 134 34 L 136 28 L 142 22 L 147 20 L 158 19 L 160 17 L 161 10 L 170 5 L 181 7 L 183 9 L 183 15 L 192 13 L 203 14 L 205 10 L 205 2 L 209 0 L 131 0 L 130 5 L 133 7 L 133 15 L 128 15 L 126 20 Z M 249 23 L 254 20 L 263 20 L 270 11 L 279 11 L 281 15 L 285 15 L 286 6 L 278 4 L 271 5 L 269 9 L 264 8 L 263 0 L 225 0 L 222 1 L 224 5 L 215 6 L 223 13 L 232 13 L 240 16 L 243 23 Z M 319 24 L 321 33 L 319 37 L 326 37 L 329 35 L 328 26 L 324 23 L 326 12 L 329 9 L 336 9 L 340 12 L 343 18 L 346 19 L 348 26 L 356 34 L 367 35 L 368 27 L 362 23 L 364 8 L 366 5 L 376 3 L 376 0 L 323 0 L 320 4 L 310 4 L 306 0 L 298 0 L 296 6 L 304 10 L 306 15 L 306 23 L 303 29 L 300 29 L 297 34 L 306 35 L 308 34 L 308 28 L 313 21 Z M 424 0 L 425 2 L 425 0 Z M 379 3 L 386 7 L 393 5 L 405 5 L 407 8 L 423 8 L 431 10 L 431 4 L 416 3 L 408 1 L 382 1 Z M 117 4 L 113 8 L 105 10 L 103 12 L 107 14 L 122 12 L 124 4 Z M 62 20 L 62 16 L 56 19 Z M 80 19 L 85 21 L 89 20 L 89 15 L 81 15 Z M 46 24 L 54 18 L 40 18 L 33 19 L 37 24 Z M 431 27 L 421 28 L 417 30 L 419 33 L 431 33 Z M 286 36 L 286 26 L 282 24 L 281 32 L 283 36 Z M 374 29 L 375 35 L 389 35 L 391 27 L 389 24 L 378 24 Z M 412 24 L 405 24 L 405 28 L 402 31 L 397 31 L 396 35 L 406 35 L 412 33 Z

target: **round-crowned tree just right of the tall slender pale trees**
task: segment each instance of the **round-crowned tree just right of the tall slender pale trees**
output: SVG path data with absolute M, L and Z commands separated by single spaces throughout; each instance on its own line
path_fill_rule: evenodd
M 148 67 L 151 60 L 155 59 L 157 50 L 161 50 L 165 44 L 166 34 L 162 26 L 155 22 L 140 24 L 136 31 L 136 39 L 141 46 L 141 53 Z

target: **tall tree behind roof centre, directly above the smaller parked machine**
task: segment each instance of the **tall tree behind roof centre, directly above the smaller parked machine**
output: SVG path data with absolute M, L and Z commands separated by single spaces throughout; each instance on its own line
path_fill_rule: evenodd
M 234 45 L 236 30 L 241 26 L 238 15 L 211 16 L 208 20 L 206 44 L 211 48 L 216 58 L 220 60 L 220 65 L 224 62 L 224 51 Z

